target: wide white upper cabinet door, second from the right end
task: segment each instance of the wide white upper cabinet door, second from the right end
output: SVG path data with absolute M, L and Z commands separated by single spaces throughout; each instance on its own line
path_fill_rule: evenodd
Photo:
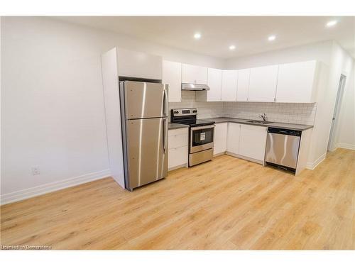
M 249 101 L 275 101 L 278 65 L 250 70 Z

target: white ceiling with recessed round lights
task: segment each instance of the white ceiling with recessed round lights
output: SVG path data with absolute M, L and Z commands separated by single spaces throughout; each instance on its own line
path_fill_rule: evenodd
M 172 48 L 221 58 L 321 40 L 337 40 L 355 58 L 355 17 L 329 16 L 72 16 L 60 20 L 123 33 Z M 328 21 L 337 25 L 327 28 Z M 193 35 L 201 33 L 200 40 Z M 275 35 L 272 42 L 269 35 Z M 229 50 L 235 45 L 235 50 Z

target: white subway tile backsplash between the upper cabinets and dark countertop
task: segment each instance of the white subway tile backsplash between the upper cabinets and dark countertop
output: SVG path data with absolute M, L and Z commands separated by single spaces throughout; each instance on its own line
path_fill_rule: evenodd
M 269 121 L 313 125 L 317 110 L 316 103 L 201 102 L 195 101 L 195 92 L 188 91 L 182 91 L 181 98 L 181 102 L 169 103 L 169 109 L 197 108 L 201 119 L 221 116 L 261 119 L 260 114 L 266 113 Z

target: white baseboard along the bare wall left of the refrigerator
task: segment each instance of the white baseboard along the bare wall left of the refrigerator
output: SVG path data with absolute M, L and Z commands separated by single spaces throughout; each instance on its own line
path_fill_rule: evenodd
M 31 187 L 29 189 L 18 190 L 17 192 L 11 192 L 8 194 L 1 195 L 0 205 L 9 204 L 15 201 L 21 201 L 22 199 L 28 199 L 33 196 L 39 196 L 49 192 L 55 192 L 56 190 L 65 189 L 67 187 L 74 187 L 77 186 L 78 184 L 91 182 L 109 176 L 110 176 L 110 171 L 107 169 L 99 172 L 83 174 L 80 175 L 79 177 L 63 179 L 58 182 L 43 184 L 38 187 Z

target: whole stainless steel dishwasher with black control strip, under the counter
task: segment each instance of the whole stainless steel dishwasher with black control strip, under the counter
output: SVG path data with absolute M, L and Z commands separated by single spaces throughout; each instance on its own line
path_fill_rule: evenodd
M 296 172 L 302 131 L 268 128 L 265 162 L 268 165 Z

